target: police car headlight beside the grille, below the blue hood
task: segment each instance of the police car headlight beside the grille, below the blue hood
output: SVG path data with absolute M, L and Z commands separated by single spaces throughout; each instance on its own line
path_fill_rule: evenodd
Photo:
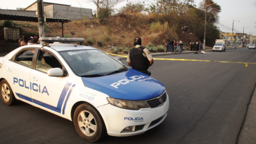
M 149 107 L 145 100 L 120 100 L 114 98 L 107 98 L 107 100 L 111 105 L 124 109 L 139 110 Z

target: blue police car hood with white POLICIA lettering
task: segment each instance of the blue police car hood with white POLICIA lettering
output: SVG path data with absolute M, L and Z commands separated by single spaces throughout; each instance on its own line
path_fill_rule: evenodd
M 86 87 L 123 100 L 148 100 L 165 91 L 162 83 L 134 69 L 102 77 L 82 77 L 82 81 Z

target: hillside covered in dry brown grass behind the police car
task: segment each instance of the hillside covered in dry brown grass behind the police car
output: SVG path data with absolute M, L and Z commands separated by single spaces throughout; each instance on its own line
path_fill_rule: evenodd
M 16 21 L 15 25 L 21 27 L 22 35 L 38 36 L 37 23 Z M 61 23 L 45 23 L 44 29 L 45 37 L 61 37 Z M 126 51 L 131 49 L 136 36 L 142 38 L 143 46 L 163 45 L 164 49 L 166 39 L 182 39 L 185 49 L 191 41 L 198 41 L 196 36 L 183 31 L 181 27 L 172 26 L 167 18 L 156 21 L 153 16 L 143 14 L 119 14 L 102 21 L 71 21 L 64 23 L 63 29 L 65 37 L 83 37 L 88 45 L 106 52 L 117 52 L 110 49 L 112 46 Z

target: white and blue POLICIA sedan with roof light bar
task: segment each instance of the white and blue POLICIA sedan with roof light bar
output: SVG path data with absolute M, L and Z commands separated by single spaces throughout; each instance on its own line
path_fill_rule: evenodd
M 137 135 L 163 122 L 165 86 L 90 46 L 46 44 L 84 38 L 40 38 L 0 58 L 1 99 L 17 100 L 73 121 L 87 141 Z

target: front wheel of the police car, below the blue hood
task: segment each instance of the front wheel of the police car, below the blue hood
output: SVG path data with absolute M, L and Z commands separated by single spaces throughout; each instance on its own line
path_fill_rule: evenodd
M 74 113 L 77 133 L 85 140 L 95 142 L 107 134 L 105 123 L 97 109 L 89 103 L 79 105 Z

